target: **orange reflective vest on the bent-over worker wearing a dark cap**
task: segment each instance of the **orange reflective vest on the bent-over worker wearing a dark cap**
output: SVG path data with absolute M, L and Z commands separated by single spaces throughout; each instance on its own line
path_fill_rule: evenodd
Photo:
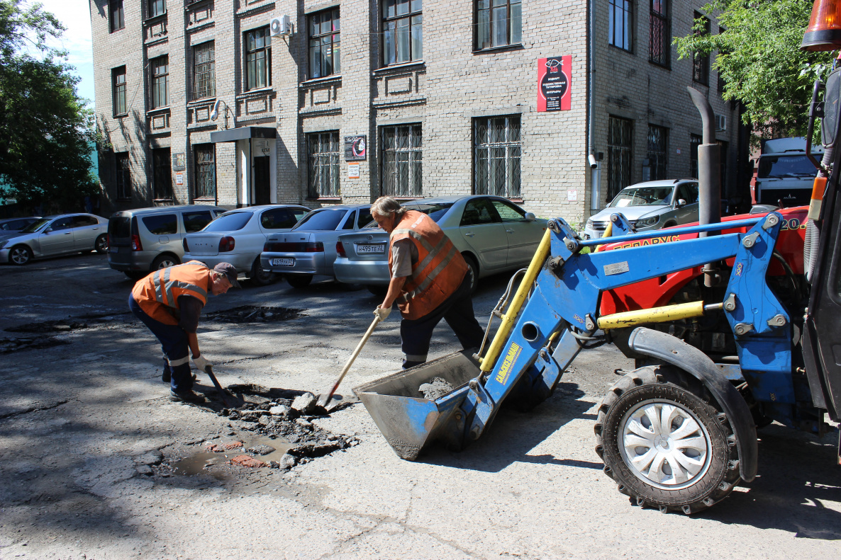
M 167 308 L 178 311 L 178 296 L 193 296 L 204 306 L 209 285 L 210 269 L 198 260 L 191 260 L 156 270 L 138 280 L 131 294 L 146 315 L 167 325 L 177 325 L 175 314 Z

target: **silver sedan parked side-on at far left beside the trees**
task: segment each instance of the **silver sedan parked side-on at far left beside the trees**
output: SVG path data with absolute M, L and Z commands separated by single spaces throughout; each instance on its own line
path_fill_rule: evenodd
M 107 250 L 108 220 L 93 214 L 61 214 L 42 217 L 0 240 L 0 262 L 27 264 L 32 259 Z

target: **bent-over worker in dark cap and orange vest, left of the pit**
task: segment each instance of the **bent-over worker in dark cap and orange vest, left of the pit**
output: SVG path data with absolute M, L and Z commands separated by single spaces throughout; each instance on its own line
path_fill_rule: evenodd
M 193 392 L 188 350 L 201 371 L 210 364 L 198 350 L 198 316 L 209 294 L 219 296 L 231 286 L 240 287 L 233 264 L 220 263 L 213 270 L 198 260 L 156 270 L 138 280 L 129 296 L 129 309 L 161 341 L 167 364 L 161 380 L 170 384 L 170 399 L 204 402 Z

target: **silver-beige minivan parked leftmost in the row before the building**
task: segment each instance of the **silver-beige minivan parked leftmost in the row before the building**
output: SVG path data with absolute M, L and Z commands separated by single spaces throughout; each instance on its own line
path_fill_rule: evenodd
M 225 208 L 188 204 L 115 212 L 108 221 L 108 264 L 132 279 L 181 264 L 182 239 L 198 232 Z

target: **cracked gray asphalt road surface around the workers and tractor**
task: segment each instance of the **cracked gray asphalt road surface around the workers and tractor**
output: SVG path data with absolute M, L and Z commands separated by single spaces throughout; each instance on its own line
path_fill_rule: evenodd
M 505 289 L 484 280 L 480 322 Z M 278 322 L 205 321 L 222 385 L 327 389 L 378 298 L 285 281 L 214 297 L 205 313 L 286 307 Z M 0 266 L 0 558 L 829 558 L 841 547 L 837 434 L 760 431 L 759 477 L 695 516 L 628 503 L 601 472 L 595 405 L 632 364 L 584 352 L 529 413 L 502 411 L 461 453 L 399 459 L 360 404 L 315 419 L 358 445 L 290 470 L 220 463 L 177 474 L 253 422 L 167 399 L 160 346 L 133 316 L 132 282 L 103 255 Z M 265 310 L 264 310 L 265 311 Z M 396 313 L 344 385 L 399 369 Z M 431 358 L 458 349 L 446 324 Z M 213 394 L 204 374 L 197 390 Z M 217 409 L 218 410 L 218 407 Z

